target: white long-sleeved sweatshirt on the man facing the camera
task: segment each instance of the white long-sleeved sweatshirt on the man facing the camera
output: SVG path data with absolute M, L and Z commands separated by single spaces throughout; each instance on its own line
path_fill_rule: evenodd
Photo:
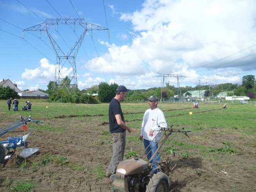
M 167 128 L 167 123 L 162 110 L 160 110 L 158 107 L 153 110 L 147 109 L 143 116 L 140 135 L 143 136 L 144 139 L 147 139 L 149 141 L 159 141 L 162 137 L 162 131 L 160 131 L 160 133 L 158 134 L 159 130 L 161 129 L 160 127 L 158 127 L 158 125 L 160 125 L 160 127 Z M 153 137 L 149 136 L 149 132 L 151 129 L 154 130 Z

